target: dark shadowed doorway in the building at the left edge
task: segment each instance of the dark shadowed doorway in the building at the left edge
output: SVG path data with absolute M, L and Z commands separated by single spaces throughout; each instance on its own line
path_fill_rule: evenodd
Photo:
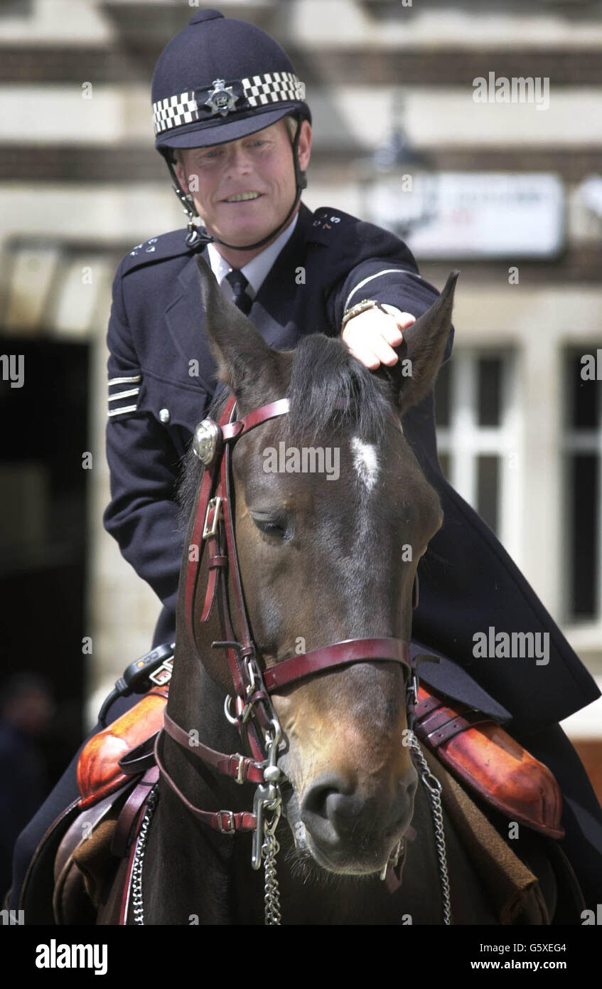
M 52 784 L 82 740 L 90 346 L 0 336 L 0 355 L 0 686 L 48 681 Z

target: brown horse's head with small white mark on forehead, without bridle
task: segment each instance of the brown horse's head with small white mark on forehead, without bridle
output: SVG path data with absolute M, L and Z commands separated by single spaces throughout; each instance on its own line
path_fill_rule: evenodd
M 321 333 L 294 351 L 272 349 L 202 259 L 199 269 L 218 377 L 237 417 L 290 403 L 232 454 L 236 545 L 260 663 L 347 639 L 409 641 L 416 568 L 442 510 L 400 420 L 433 386 L 457 274 L 404 330 L 397 363 L 371 372 L 340 338 Z M 222 657 L 204 661 L 229 690 Z M 417 783 L 403 744 L 403 667 L 359 662 L 272 699 L 286 734 L 279 765 L 298 848 L 334 872 L 379 871 L 411 820 Z

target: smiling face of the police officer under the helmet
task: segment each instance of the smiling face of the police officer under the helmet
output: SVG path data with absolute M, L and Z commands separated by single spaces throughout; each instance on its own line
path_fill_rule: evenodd
M 303 121 L 303 169 L 310 144 L 311 128 Z M 295 201 L 293 151 L 284 120 L 238 140 L 186 148 L 176 174 L 209 232 L 230 244 L 261 240 L 282 224 Z

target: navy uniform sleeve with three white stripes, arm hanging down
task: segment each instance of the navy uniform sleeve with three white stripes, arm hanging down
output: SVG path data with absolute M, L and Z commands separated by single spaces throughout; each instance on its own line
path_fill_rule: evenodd
M 124 306 L 122 265 L 107 335 L 111 501 L 104 523 L 136 574 L 175 612 L 184 542 L 175 500 L 179 456 L 167 428 L 144 410 L 144 376 Z

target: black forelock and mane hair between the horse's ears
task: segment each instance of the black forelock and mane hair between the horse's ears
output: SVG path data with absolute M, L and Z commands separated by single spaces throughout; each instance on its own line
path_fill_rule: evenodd
M 218 419 L 230 392 L 224 389 L 207 416 Z M 391 407 L 390 382 L 377 377 L 349 353 L 343 340 L 311 333 L 301 338 L 291 365 L 282 438 L 288 444 L 315 441 L 336 428 L 353 430 L 364 442 L 376 442 L 387 427 Z M 283 396 L 284 398 L 284 396 Z M 340 407 L 340 400 L 348 400 Z M 179 525 L 186 530 L 195 503 L 203 465 L 192 444 L 182 461 L 177 499 Z

